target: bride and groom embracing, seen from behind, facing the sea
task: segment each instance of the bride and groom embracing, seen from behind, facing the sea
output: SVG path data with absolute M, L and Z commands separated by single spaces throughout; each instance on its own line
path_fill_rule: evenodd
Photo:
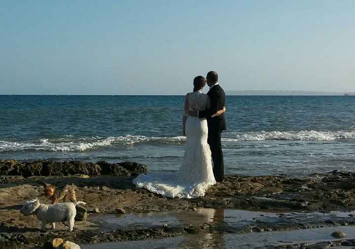
M 206 82 L 210 91 L 204 94 Z M 211 185 L 223 181 L 221 133 L 226 129 L 225 93 L 214 71 L 206 79 L 195 77 L 193 85 L 194 90 L 186 94 L 184 103 L 182 133 L 186 135 L 186 147 L 179 170 L 140 175 L 133 180 L 137 187 L 166 197 L 196 198 L 204 196 Z

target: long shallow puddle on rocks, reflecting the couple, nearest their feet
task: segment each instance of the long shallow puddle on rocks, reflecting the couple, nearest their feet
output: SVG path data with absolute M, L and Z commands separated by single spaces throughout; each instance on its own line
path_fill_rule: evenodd
M 125 215 L 100 215 L 93 218 L 104 230 L 187 226 L 213 223 L 216 226 L 243 230 L 247 226 L 263 224 L 281 226 L 315 226 L 355 224 L 354 213 L 268 213 L 234 209 L 199 209 L 197 211 L 155 212 Z M 274 229 L 275 230 L 275 229 Z M 277 230 L 277 229 L 276 229 Z

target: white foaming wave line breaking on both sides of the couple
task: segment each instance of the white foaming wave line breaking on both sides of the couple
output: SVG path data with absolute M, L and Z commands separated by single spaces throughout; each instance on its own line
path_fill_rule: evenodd
M 236 143 L 243 141 L 265 140 L 293 140 L 293 141 L 332 141 L 355 139 L 355 131 L 260 131 L 260 132 L 225 132 L 222 142 Z M 52 151 L 52 152 L 80 152 L 100 149 L 110 146 L 134 146 L 147 142 L 159 144 L 182 144 L 186 141 L 184 136 L 174 137 L 148 137 L 143 135 L 124 135 L 110 137 L 84 137 L 64 136 L 56 139 L 38 139 L 34 141 L 1 141 L 0 152 L 11 151 Z M 268 147 L 268 145 L 263 145 Z

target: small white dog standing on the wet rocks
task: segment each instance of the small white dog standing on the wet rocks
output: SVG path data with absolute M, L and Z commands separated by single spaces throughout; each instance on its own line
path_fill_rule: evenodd
M 58 204 L 41 204 L 38 197 L 32 201 L 26 201 L 20 212 L 24 216 L 36 215 L 37 219 L 42 222 L 41 230 L 45 230 L 47 223 L 52 223 L 52 228 L 55 229 L 55 222 L 68 221 L 69 230 L 72 231 L 75 222 L 76 209 L 75 206 L 85 202 L 77 201 L 64 202 Z

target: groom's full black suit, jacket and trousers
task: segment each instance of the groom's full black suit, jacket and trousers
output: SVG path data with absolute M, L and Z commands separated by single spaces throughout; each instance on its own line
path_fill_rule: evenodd
M 211 100 L 211 107 L 206 111 L 199 111 L 199 118 L 206 118 L 209 128 L 208 143 L 212 152 L 213 174 L 217 182 L 224 178 L 224 163 L 221 143 L 221 133 L 226 130 L 224 114 L 212 118 L 211 116 L 225 106 L 225 93 L 219 85 L 213 86 L 207 93 Z

